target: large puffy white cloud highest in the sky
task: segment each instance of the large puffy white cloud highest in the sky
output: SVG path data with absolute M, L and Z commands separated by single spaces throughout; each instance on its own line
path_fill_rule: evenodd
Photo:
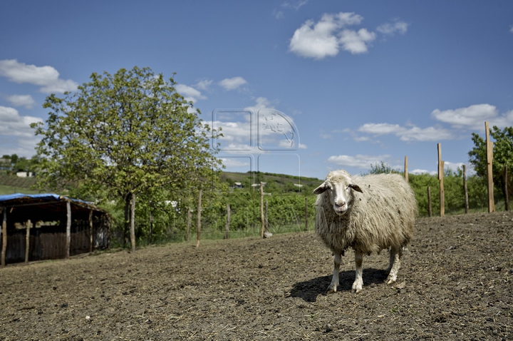
M 341 46 L 351 54 L 366 52 L 367 44 L 375 39 L 375 34 L 367 29 L 344 29 L 346 26 L 360 24 L 362 20 L 362 16 L 353 12 L 324 14 L 317 23 L 307 20 L 294 31 L 289 51 L 315 59 L 336 56 Z

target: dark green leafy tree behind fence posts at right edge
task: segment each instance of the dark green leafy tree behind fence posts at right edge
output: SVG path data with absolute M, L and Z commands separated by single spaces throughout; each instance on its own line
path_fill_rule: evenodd
M 491 138 L 495 140 L 493 145 L 493 180 L 494 184 L 500 186 L 502 194 L 504 193 L 504 165 L 507 165 L 509 172 L 513 170 L 513 127 L 506 127 L 503 130 L 493 126 L 489 130 Z M 470 163 L 474 166 L 475 172 L 482 178 L 487 175 L 487 161 L 486 161 L 486 141 L 477 135 L 472 133 L 472 141 L 475 147 L 469 151 Z M 510 178 L 511 175 L 508 176 Z M 508 188 L 511 185 L 508 183 Z M 511 195 L 509 189 L 509 195 Z

